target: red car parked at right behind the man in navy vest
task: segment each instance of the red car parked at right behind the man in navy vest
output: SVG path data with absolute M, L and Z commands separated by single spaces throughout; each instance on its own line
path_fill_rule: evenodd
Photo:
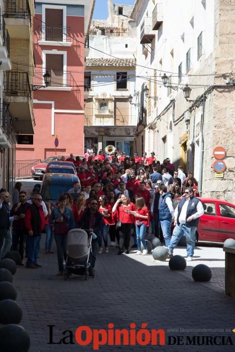
M 221 199 L 199 198 L 204 208 L 197 228 L 198 241 L 224 242 L 235 239 L 235 205 Z M 174 208 L 180 198 L 173 200 Z

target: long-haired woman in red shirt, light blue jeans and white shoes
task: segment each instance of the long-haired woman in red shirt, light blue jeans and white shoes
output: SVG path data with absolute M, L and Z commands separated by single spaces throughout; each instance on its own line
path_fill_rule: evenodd
M 144 239 L 145 227 L 149 226 L 149 214 L 148 209 L 144 203 L 142 197 L 137 198 L 135 202 L 135 211 L 128 210 L 129 214 L 134 215 L 135 217 L 135 230 L 136 230 L 136 239 L 138 250 L 136 254 L 147 254 L 147 247 Z M 141 253 L 141 243 L 143 245 L 143 252 Z

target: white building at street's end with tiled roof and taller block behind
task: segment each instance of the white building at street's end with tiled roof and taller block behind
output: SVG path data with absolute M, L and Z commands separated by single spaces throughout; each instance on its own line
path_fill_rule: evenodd
M 86 58 L 85 150 L 109 144 L 127 155 L 134 151 L 137 107 L 129 103 L 135 94 L 135 21 L 133 6 L 108 1 L 109 18 L 92 21 Z

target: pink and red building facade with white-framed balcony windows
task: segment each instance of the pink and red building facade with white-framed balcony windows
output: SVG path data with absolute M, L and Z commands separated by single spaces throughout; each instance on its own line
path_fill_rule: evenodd
M 17 145 L 17 160 L 84 153 L 84 71 L 94 0 L 36 0 L 32 145 Z M 48 71 L 51 81 L 45 85 Z M 38 87 L 41 88 L 37 89 Z

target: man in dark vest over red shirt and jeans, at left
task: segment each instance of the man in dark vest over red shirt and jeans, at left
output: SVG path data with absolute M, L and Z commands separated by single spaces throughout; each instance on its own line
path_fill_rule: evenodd
M 25 213 L 25 227 L 28 230 L 26 268 L 38 269 L 41 266 L 37 263 L 38 248 L 40 248 L 41 234 L 45 227 L 45 216 L 41 206 L 42 196 L 38 193 L 31 207 Z

